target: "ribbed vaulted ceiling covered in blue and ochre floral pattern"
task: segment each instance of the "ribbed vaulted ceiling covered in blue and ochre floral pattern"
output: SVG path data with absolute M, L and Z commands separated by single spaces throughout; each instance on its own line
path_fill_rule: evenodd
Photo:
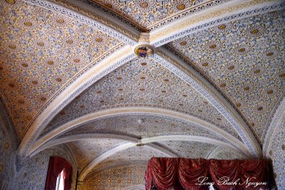
M 0 95 L 19 154 L 65 144 L 81 181 L 153 156 L 262 157 L 285 95 L 284 7 L 0 1 Z M 138 57 L 141 44 L 154 54 Z

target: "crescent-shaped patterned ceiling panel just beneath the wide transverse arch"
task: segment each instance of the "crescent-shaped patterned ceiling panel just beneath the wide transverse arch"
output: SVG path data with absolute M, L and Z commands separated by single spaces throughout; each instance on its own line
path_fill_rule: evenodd
M 71 134 L 88 134 L 91 132 L 123 134 L 142 138 L 170 134 L 187 134 L 222 141 L 221 137 L 217 137 L 214 133 L 204 130 L 201 127 L 193 126 L 190 123 L 169 117 L 143 114 L 98 119 L 81 127 L 77 127 L 70 132 L 66 132 L 64 136 Z

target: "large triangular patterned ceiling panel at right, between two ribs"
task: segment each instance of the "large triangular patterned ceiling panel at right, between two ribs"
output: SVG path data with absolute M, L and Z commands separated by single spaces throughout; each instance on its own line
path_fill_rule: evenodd
M 170 43 L 232 100 L 260 140 L 285 93 L 284 25 L 284 11 L 276 11 Z

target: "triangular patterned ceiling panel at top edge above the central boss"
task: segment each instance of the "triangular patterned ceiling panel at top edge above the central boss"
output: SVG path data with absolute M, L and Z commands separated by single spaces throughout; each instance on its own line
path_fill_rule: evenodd
M 125 17 L 128 21 L 141 28 L 142 31 L 151 31 L 167 23 L 182 19 L 185 16 L 209 9 L 227 0 L 167 0 L 167 1 L 118 1 L 93 0 L 116 14 Z

